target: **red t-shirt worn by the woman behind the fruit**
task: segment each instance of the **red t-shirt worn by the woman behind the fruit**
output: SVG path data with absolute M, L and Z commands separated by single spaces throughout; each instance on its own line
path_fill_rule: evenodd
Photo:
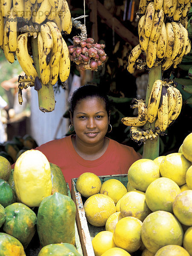
M 66 182 L 71 189 L 71 179 L 79 177 L 84 172 L 96 175 L 127 174 L 129 167 L 141 155 L 133 148 L 109 139 L 105 153 L 96 160 L 84 160 L 77 154 L 71 136 L 49 141 L 37 147 L 48 159 L 61 168 Z

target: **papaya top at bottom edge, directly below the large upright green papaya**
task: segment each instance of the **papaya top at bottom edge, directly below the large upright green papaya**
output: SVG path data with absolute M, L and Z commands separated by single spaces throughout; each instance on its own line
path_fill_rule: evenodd
M 38 256 L 81 256 L 73 244 L 48 244 L 44 246 Z

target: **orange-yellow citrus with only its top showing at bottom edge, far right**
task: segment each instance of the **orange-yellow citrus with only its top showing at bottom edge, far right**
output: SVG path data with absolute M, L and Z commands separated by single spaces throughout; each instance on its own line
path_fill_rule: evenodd
M 179 245 L 169 244 L 160 248 L 155 256 L 190 256 L 189 253 Z

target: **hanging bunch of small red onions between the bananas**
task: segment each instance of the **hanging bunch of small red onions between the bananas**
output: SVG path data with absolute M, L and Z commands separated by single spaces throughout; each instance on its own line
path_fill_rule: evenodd
M 73 37 L 73 45 L 68 47 L 71 61 L 74 61 L 79 70 L 97 71 L 106 59 L 105 44 L 94 44 L 93 38 L 80 39 Z

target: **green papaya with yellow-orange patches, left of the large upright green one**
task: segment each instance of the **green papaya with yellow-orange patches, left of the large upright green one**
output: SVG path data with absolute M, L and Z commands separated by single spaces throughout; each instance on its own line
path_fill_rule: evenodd
M 22 203 L 11 204 L 5 210 L 6 221 L 3 224 L 3 231 L 17 238 L 25 249 L 35 234 L 35 212 Z

